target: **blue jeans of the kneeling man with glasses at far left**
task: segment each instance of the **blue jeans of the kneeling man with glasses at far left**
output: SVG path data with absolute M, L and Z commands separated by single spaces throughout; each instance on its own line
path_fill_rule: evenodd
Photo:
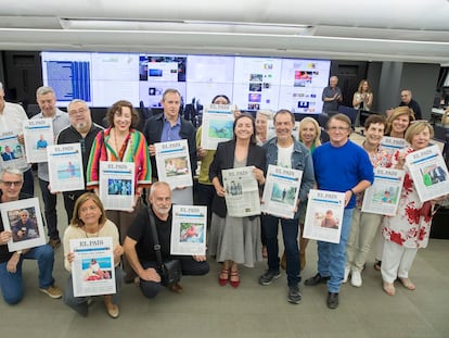
M 54 284 L 53 262 L 54 251 L 49 245 L 36 247 L 21 258 L 17 263 L 16 272 L 10 273 L 7 270 L 8 261 L 0 263 L 0 288 L 3 299 L 9 304 L 18 303 L 24 296 L 24 285 L 22 278 L 23 260 L 37 260 L 39 268 L 39 288 L 47 289 Z

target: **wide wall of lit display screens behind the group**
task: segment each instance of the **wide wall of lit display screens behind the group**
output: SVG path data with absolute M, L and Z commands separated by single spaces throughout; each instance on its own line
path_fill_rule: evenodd
M 281 58 L 42 52 L 44 86 L 57 104 L 82 99 L 91 107 L 128 100 L 161 108 L 164 90 L 178 89 L 183 103 L 210 103 L 228 96 L 243 111 L 288 109 L 319 114 L 331 62 Z

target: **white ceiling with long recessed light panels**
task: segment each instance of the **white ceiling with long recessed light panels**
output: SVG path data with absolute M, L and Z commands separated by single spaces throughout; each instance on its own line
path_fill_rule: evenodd
M 449 65 L 448 0 L 16 0 L 0 13 L 0 50 Z

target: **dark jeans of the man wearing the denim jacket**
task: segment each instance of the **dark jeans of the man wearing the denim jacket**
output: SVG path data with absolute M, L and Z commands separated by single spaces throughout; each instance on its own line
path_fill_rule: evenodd
M 279 272 L 278 224 L 281 221 L 282 237 L 286 255 L 286 274 L 288 286 L 296 286 L 300 281 L 299 250 L 298 250 L 298 220 L 285 220 L 271 215 L 262 215 L 264 230 L 267 239 L 268 270 Z

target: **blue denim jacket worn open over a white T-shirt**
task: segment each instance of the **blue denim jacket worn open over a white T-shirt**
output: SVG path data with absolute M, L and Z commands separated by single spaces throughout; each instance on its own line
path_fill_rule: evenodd
M 273 137 L 267 141 L 262 148 L 267 151 L 267 172 L 269 164 L 278 165 L 278 138 Z M 303 171 L 303 179 L 299 187 L 299 201 L 306 201 L 307 195 L 315 184 L 313 162 L 310 150 L 296 139 L 294 139 L 293 143 L 292 168 Z M 295 218 L 297 218 L 298 215 L 299 208 L 295 214 Z

